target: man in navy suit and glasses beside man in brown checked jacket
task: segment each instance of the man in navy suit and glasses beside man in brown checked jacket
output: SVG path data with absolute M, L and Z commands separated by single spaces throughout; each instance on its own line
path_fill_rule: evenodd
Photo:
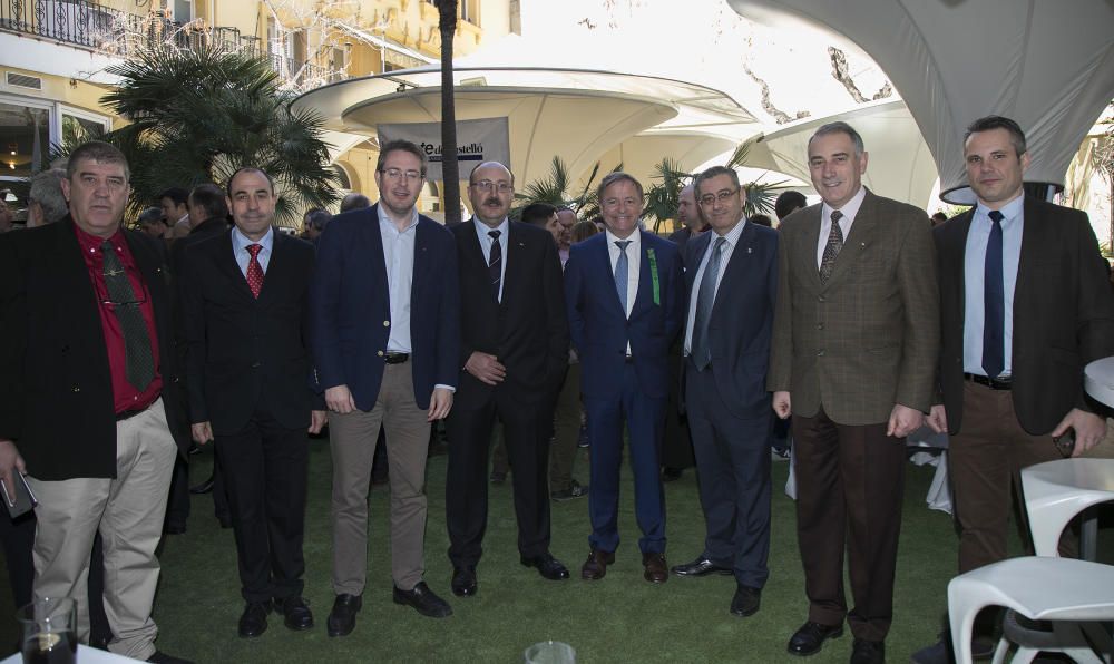
M 680 576 L 733 574 L 731 613 L 759 609 L 770 572 L 770 393 L 765 374 L 778 294 L 778 232 L 747 222 L 731 168 L 696 177 L 712 227 L 685 252 L 685 403 L 707 524 L 704 551 Z

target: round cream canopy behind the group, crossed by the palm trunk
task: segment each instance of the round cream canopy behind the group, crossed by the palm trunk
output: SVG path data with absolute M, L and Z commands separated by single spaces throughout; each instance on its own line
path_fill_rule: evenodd
M 520 183 L 544 177 L 553 157 L 583 175 L 623 155 L 636 177 L 663 156 L 695 168 L 759 131 L 731 97 L 694 84 L 652 76 L 559 68 L 455 68 L 458 120 L 507 117 L 511 168 Z M 437 67 L 332 84 L 302 95 L 332 131 L 374 136 L 380 123 L 440 120 Z M 636 138 L 637 137 L 637 138 Z M 691 145 L 680 146 L 678 137 Z M 658 147 L 678 152 L 652 154 Z M 605 158 L 606 157 L 606 158 Z

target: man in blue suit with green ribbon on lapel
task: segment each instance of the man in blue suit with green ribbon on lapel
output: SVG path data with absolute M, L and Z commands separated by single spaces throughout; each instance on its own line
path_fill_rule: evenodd
M 582 393 L 592 439 L 592 551 L 580 576 L 600 579 L 615 562 L 625 421 L 644 576 L 664 583 L 670 573 L 658 470 L 670 343 L 683 315 L 681 256 L 675 244 L 639 227 L 645 198 L 634 177 L 610 173 L 597 194 L 606 230 L 574 245 L 565 266 L 565 303 L 583 365 Z

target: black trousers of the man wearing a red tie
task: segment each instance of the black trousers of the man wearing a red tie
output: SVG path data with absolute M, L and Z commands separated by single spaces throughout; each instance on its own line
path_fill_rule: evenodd
M 302 594 L 309 437 L 256 412 L 233 434 L 217 434 L 217 456 L 236 536 L 247 602 Z

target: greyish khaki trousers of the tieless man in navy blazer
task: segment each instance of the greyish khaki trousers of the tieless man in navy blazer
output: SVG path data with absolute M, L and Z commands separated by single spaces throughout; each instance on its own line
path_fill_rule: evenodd
M 333 453 L 333 592 L 360 595 L 368 578 L 368 489 L 379 428 L 391 462 L 391 576 L 402 590 L 422 579 L 426 546 L 427 411 L 414 401 L 409 362 L 387 364 L 368 412 L 329 413 Z

